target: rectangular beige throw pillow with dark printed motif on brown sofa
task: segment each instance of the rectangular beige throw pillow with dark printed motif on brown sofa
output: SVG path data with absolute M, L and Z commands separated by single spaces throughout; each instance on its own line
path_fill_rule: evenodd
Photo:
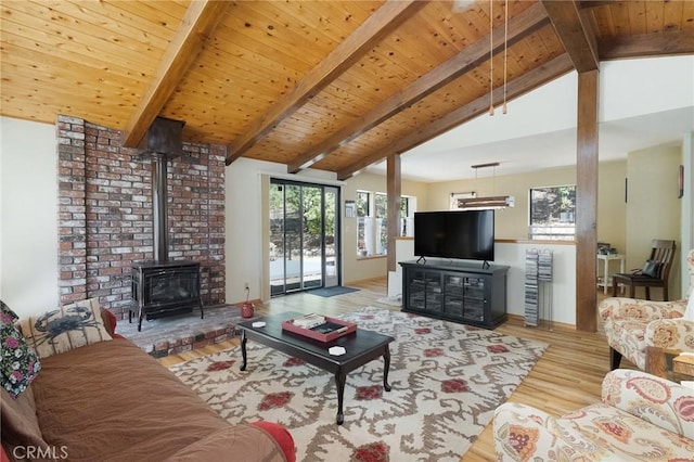
M 20 326 L 40 358 L 113 339 L 101 317 L 98 298 L 24 319 Z

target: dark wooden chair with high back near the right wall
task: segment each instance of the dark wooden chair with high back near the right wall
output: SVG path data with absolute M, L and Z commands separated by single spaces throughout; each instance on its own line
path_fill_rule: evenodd
M 619 284 L 629 286 L 629 297 L 635 298 L 637 287 L 645 287 L 646 300 L 651 299 L 651 287 L 663 288 L 663 300 L 668 301 L 668 279 L 672 260 L 674 259 L 674 241 L 665 241 L 654 239 L 651 245 L 651 256 L 648 261 L 655 262 L 655 273 L 653 275 L 644 274 L 643 269 L 635 270 L 630 273 L 616 273 L 612 275 L 613 294 L 617 296 L 617 287 Z

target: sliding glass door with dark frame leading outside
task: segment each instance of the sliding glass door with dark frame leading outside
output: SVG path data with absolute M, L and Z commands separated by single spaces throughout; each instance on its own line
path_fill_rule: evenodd
M 337 285 L 338 189 L 270 180 L 270 294 Z

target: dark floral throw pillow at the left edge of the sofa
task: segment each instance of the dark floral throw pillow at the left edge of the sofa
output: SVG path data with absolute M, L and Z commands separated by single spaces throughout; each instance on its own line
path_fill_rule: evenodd
M 41 369 L 36 351 L 14 325 L 17 316 L 0 300 L 0 367 L 2 387 L 16 398 L 24 392 Z

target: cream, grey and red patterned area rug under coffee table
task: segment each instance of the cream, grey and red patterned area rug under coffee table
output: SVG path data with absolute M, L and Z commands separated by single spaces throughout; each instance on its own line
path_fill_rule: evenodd
M 383 360 L 347 375 L 345 423 L 335 424 L 334 377 L 248 342 L 171 368 L 231 423 L 286 425 L 299 461 L 455 461 L 528 374 L 547 345 L 430 318 L 368 307 L 343 319 L 391 335 L 391 392 Z

